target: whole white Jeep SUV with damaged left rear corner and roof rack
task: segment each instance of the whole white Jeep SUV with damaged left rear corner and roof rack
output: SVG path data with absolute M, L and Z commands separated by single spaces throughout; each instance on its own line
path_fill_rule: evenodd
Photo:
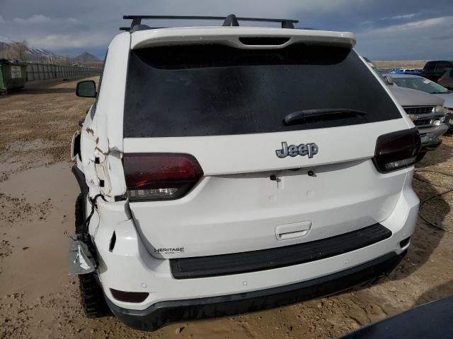
M 97 91 L 77 87 L 96 97 L 71 151 L 70 272 L 88 316 L 108 305 L 152 331 L 396 267 L 418 214 L 420 137 L 352 33 L 125 18 Z

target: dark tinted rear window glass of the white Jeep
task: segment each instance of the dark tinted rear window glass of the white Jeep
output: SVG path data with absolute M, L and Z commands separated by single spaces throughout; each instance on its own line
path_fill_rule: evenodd
M 366 117 L 283 124 L 302 109 L 355 109 Z M 190 45 L 130 54 L 125 137 L 269 133 L 398 118 L 394 102 L 350 49 Z

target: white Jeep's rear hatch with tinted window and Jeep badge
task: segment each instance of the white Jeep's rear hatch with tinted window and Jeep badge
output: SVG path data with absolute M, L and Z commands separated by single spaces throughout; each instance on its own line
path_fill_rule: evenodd
M 372 157 L 380 135 L 408 124 L 376 76 L 350 46 L 263 43 L 132 49 L 126 181 L 128 171 L 146 176 L 147 165 L 137 167 L 150 163 L 149 153 L 196 167 L 182 196 L 130 196 L 153 256 L 311 242 L 373 225 L 394 209 L 406 172 L 380 174 Z M 346 113 L 299 119 L 307 109 Z

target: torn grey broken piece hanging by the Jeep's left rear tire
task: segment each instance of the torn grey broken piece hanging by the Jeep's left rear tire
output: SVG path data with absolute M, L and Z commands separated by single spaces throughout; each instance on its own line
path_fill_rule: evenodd
M 82 234 L 70 234 L 69 239 L 69 275 L 93 273 L 96 259 L 83 241 Z

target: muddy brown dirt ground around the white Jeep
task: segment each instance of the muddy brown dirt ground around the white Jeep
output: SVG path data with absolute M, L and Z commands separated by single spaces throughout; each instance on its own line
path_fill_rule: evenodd
M 71 136 L 92 100 L 75 81 L 0 97 L 0 338 L 338 338 L 367 323 L 453 295 L 453 138 L 418 165 L 419 218 L 408 256 L 372 287 L 280 309 L 134 331 L 86 319 L 67 275 L 66 232 L 78 187 Z M 442 174 L 440 174 L 442 172 Z

